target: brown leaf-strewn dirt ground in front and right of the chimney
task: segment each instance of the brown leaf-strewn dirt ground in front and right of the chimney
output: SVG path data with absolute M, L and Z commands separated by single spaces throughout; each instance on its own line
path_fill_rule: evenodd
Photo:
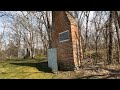
M 60 77 L 61 76 L 61 77 Z M 104 65 L 103 62 L 93 65 L 91 62 L 83 62 L 76 71 L 63 71 L 58 78 L 63 79 L 120 79 L 120 65 Z

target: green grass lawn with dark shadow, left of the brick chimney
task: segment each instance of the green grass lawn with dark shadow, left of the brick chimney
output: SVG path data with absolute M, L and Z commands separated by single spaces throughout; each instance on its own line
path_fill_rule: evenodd
M 52 79 L 46 60 L 12 59 L 0 62 L 0 79 Z

